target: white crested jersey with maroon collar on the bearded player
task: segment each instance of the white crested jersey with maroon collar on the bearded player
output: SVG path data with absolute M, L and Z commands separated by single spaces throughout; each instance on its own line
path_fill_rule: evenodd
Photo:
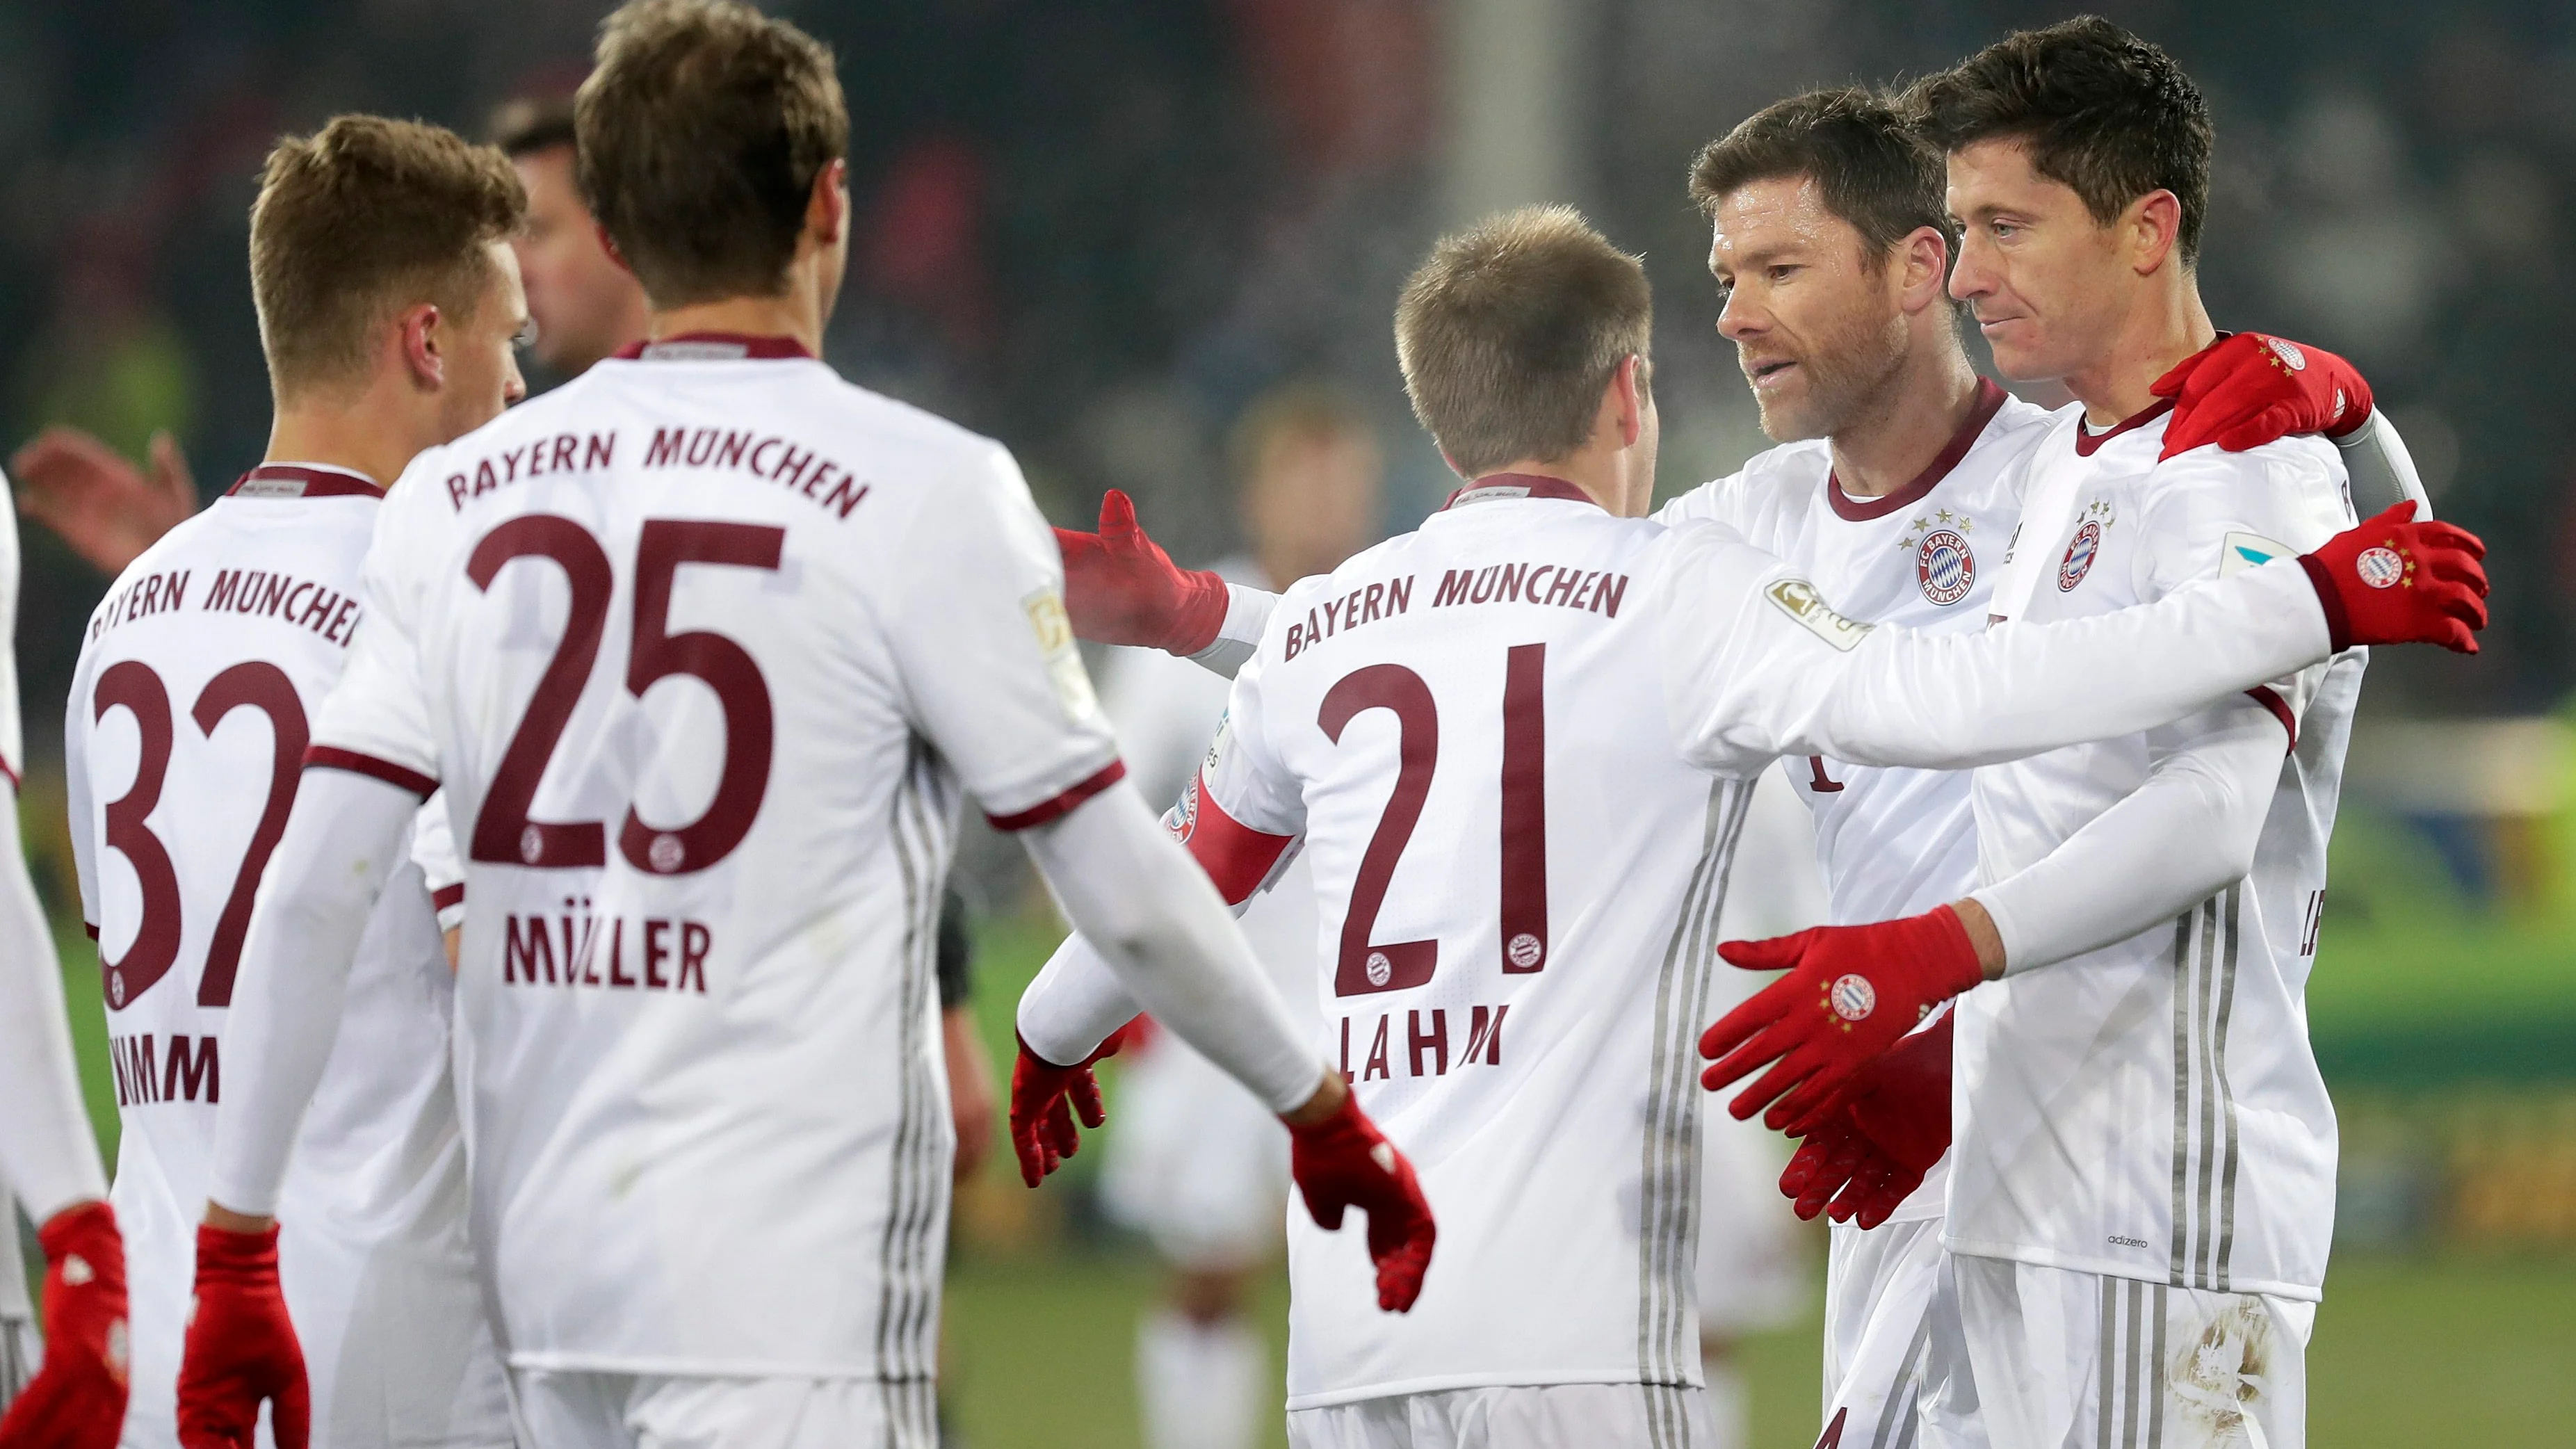
M 1986 627 L 1994 575 L 2022 521 L 2022 464 L 2050 413 L 1994 382 L 1914 482 L 1883 498 L 1852 498 L 1834 482 L 1824 438 L 1754 454 L 1744 469 L 1674 498 L 1656 518 L 1713 518 L 1770 549 L 1852 619 L 1906 629 Z M 1968 771 L 1852 766 L 1808 755 L 1783 771 L 1816 817 L 1826 920 L 1860 926 L 1919 915 L 1976 890 L 1976 815 Z M 1744 975 L 1744 972 L 1731 972 Z M 1754 987 L 1770 977 L 1749 977 Z M 1721 977 L 1721 995 L 1726 977 Z M 1947 1158 L 1896 1209 L 1940 1217 Z

